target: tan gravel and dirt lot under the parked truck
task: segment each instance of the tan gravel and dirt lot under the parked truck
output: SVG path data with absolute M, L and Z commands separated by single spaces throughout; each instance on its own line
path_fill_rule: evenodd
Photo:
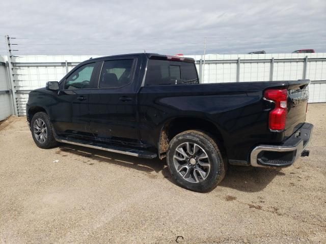
M 282 170 L 231 167 L 201 194 L 173 184 L 165 161 L 40 149 L 26 119 L 11 117 L 0 125 L 1 241 L 326 243 L 326 104 L 309 105 L 307 121 L 309 158 Z

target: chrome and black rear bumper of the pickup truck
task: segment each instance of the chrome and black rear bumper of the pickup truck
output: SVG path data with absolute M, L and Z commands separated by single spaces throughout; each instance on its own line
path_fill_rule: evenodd
M 304 152 L 307 147 L 314 126 L 304 123 L 292 136 L 281 145 L 259 145 L 256 146 L 250 155 L 250 164 L 254 167 L 288 167 L 294 161 L 307 155 Z M 309 155 L 309 154 L 308 154 Z

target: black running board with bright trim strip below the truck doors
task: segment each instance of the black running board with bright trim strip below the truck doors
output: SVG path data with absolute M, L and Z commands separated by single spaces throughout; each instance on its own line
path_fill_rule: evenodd
M 156 158 L 156 154 L 152 151 L 145 151 L 140 149 L 133 149 L 129 147 L 124 146 L 117 146 L 117 145 L 107 145 L 102 143 L 96 143 L 96 142 L 89 142 L 89 141 L 83 141 L 78 139 L 71 139 L 67 137 L 56 137 L 56 140 L 59 142 L 77 145 L 77 146 L 85 146 L 89 148 L 95 148 L 100 149 L 104 151 L 111 151 L 112 153 L 117 154 L 125 154 L 129 156 L 139 157 L 139 158 L 145 158 L 145 159 L 154 159 Z

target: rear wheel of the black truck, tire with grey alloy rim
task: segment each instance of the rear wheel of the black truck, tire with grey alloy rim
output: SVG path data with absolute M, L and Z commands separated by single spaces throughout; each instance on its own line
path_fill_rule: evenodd
M 177 184 L 195 192 L 214 189 L 226 173 L 226 160 L 216 142 L 196 130 L 184 131 L 171 140 L 167 164 Z

